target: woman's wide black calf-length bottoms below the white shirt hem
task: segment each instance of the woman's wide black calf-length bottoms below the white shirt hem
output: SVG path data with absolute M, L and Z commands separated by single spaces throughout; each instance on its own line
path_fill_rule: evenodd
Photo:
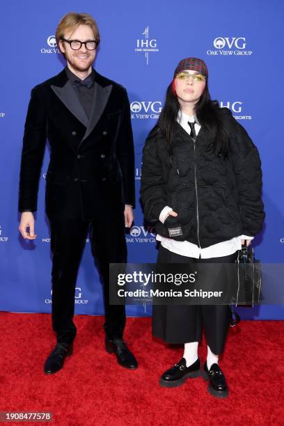
M 159 246 L 159 263 L 234 263 L 237 252 L 220 258 L 195 259 L 178 255 Z M 227 276 L 224 285 L 230 285 Z M 152 333 L 168 343 L 198 342 L 202 338 L 203 325 L 207 345 L 214 354 L 221 354 L 226 342 L 230 322 L 229 305 L 154 305 Z

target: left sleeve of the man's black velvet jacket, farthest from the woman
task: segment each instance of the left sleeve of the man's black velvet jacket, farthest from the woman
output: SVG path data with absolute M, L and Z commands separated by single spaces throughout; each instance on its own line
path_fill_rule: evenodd
M 24 125 L 21 168 L 19 175 L 19 212 L 36 212 L 38 183 L 47 139 L 47 118 L 37 88 L 31 100 Z

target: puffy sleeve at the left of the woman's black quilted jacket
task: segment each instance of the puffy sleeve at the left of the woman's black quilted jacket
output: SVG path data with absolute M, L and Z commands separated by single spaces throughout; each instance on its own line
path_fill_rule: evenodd
M 155 138 L 147 139 L 143 148 L 140 195 L 145 219 L 149 222 L 158 221 L 161 210 L 167 203 L 161 159 L 157 153 Z

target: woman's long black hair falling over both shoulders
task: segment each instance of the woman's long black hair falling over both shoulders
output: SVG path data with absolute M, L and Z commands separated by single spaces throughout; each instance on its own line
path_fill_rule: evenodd
M 173 82 L 166 90 L 166 101 L 161 111 L 157 125 L 150 132 L 150 137 L 161 132 L 165 139 L 167 148 L 172 152 L 171 146 L 174 141 L 174 129 L 177 125 L 180 103 L 178 97 L 173 93 Z M 206 81 L 203 94 L 194 107 L 196 118 L 201 126 L 204 126 L 209 132 L 212 143 L 208 145 L 207 150 L 214 151 L 217 155 L 228 155 L 228 137 L 223 127 L 223 122 L 219 113 L 218 101 L 212 101 Z

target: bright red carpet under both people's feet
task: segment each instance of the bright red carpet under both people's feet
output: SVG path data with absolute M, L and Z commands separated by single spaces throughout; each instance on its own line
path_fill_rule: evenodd
M 125 340 L 139 361 L 129 371 L 104 350 L 102 317 L 77 316 L 74 354 L 42 372 L 54 345 L 47 314 L 0 313 L 0 411 L 51 411 L 42 425 L 283 425 L 283 322 L 246 321 L 230 329 L 220 365 L 230 395 L 216 400 L 200 377 L 173 389 L 159 376 L 182 349 L 150 333 L 150 318 L 129 318 Z M 200 346 L 205 359 L 205 342 Z M 13 423 L 19 424 L 22 423 Z

